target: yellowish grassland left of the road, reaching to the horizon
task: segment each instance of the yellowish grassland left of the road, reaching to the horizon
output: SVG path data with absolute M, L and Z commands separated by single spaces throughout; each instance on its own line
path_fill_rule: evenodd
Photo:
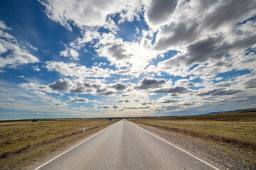
M 1 122 L 0 169 L 23 169 L 110 124 L 107 119 Z

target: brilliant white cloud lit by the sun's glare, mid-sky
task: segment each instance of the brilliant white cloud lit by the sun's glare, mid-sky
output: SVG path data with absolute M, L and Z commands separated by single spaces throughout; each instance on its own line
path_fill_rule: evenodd
M 112 33 L 103 33 L 97 46 L 97 54 L 106 57 L 117 67 L 115 74 L 132 77 L 152 72 L 154 68 L 149 67 L 149 61 L 159 55 L 159 52 L 152 49 L 149 39 L 142 38 L 140 42 L 129 42 L 116 38 Z

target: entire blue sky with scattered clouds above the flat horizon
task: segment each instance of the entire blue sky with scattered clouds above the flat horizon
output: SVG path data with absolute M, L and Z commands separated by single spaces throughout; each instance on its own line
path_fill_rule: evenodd
M 256 107 L 255 0 L 0 4 L 0 120 Z

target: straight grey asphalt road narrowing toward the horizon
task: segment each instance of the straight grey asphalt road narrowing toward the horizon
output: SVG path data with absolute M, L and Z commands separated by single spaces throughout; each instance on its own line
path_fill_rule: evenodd
M 216 169 L 121 120 L 36 169 Z

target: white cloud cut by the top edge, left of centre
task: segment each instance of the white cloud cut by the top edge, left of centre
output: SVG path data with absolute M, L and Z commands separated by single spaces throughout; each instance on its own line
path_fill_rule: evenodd
M 85 26 L 105 26 L 107 16 L 120 13 L 120 21 L 133 21 L 134 16 L 139 17 L 142 11 L 142 3 L 139 0 L 129 1 L 48 1 L 41 0 L 46 6 L 48 18 L 60 23 L 68 30 L 72 30 L 71 24 L 79 28 Z

